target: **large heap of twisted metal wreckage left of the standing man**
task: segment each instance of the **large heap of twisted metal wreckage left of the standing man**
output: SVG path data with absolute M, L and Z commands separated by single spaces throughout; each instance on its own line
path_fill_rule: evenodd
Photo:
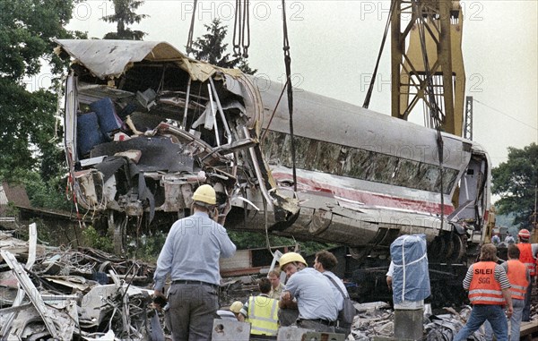
M 22 242 L 0 231 L 0 339 L 164 340 L 153 267 L 106 252 Z

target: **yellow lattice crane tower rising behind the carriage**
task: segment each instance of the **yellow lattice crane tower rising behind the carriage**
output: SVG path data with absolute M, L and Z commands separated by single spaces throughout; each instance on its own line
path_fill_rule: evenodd
M 392 5 L 392 115 L 407 120 L 422 102 L 426 126 L 462 136 L 464 18 L 459 1 L 393 0 Z

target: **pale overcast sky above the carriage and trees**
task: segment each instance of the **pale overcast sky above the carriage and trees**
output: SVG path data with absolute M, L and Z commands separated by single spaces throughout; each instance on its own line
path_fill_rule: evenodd
M 185 50 L 193 1 L 146 0 L 148 14 L 134 30 L 144 40 L 166 41 Z M 507 160 L 507 148 L 538 142 L 538 1 L 465 1 L 463 54 L 466 96 L 473 96 L 473 140 L 490 153 L 493 166 Z M 228 25 L 231 47 L 235 1 L 198 1 L 195 34 L 218 17 Z M 286 1 L 294 85 L 361 106 L 386 25 L 389 1 Z M 100 17 L 112 3 L 77 4 L 70 30 L 102 38 L 116 26 Z M 282 2 L 250 3 L 248 63 L 258 75 L 282 81 Z M 387 41 L 369 108 L 390 115 L 390 40 Z M 421 123 L 421 115 L 413 122 Z M 335 132 L 337 133 L 337 132 Z

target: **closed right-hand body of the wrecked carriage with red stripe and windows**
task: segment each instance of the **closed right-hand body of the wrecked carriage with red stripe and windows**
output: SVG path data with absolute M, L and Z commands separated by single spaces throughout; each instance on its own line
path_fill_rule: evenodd
M 377 265 L 386 265 L 390 243 L 402 234 L 426 234 L 430 260 L 473 258 L 490 211 L 490 158 L 482 146 L 295 90 L 294 193 L 288 103 L 279 99 L 281 90 L 271 82 L 260 89 L 260 145 L 278 188 L 295 195 L 300 210 L 293 225 L 270 231 L 347 245 L 355 258 L 380 260 Z M 263 215 L 247 209 L 245 225 L 263 231 Z M 229 215 L 228 223 L 238 216 Z

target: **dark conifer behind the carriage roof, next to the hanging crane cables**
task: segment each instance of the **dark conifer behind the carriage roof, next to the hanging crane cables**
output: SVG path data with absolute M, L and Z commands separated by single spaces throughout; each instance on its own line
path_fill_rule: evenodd
M 224 44 L 224 38 L 228 33 L 226 26 L 221 26 L 219 19 L 213 19 L 211 25 L 204 25 L 205 30 L 208 33 L 202 37 L 196 38 L 193 42 L 192 51 L 195 58 L 203 60 L 209 64 L 225 67 L 225 68 L 239 68 L 242 72 L 247 74 L 255 74 L 257 70 L 252 70 L 248 66 L 247 61 L 243 57 L 236 57 L 230 59 L 230 53 L 226 53 L 228 44 Z

